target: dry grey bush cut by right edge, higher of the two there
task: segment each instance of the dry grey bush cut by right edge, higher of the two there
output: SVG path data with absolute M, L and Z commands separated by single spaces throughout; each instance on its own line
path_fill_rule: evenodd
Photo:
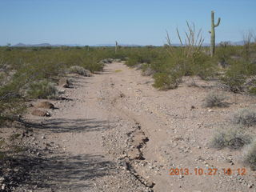
M 244 126 L 254 126 L 256 125 L 256 110 L 249 108 L 238 110 L 234 114 L 233 121 Z

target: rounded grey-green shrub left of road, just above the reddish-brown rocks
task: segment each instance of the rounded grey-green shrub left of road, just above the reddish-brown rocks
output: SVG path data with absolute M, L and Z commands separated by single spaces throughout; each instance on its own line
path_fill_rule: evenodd
M 54 83 L 47 80 L 30 83 L 27 94 L 30 98 L 57 98 L 58 90 Z

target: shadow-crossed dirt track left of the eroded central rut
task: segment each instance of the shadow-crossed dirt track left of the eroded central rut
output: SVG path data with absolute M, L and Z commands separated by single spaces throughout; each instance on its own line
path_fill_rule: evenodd
M 29 189 L 151 191 L 133 174 L 119 167 L 103 147 L 102 134 L 118 123 L 118 116 L 102 109 L 100 101 L 102 84 L 110 75 L 106 69 L 93 78 L 74 76 L 74 89 L 66 89 L 63 95 L 71 101 L 52 101 L 58 109 L 50 111 L 50 118 L 26 116 L 37 125 L 32 125 L 35 135 L 32 145 L 42 150 L 47 148 L 47 153 L 42 152 L 42 170 L 36 170 L 41 174 L 34 174 L 33 187 Z

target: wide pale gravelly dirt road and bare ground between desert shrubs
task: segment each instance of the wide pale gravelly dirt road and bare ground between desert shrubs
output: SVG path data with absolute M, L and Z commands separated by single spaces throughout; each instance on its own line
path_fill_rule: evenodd
M 190 86 L 186 79 L 177 90 L 159 91 L 152 78 L 118 62 L 93 77 L 72 78 L 74 88 L 64 94 L 70 100 L 52 101 L 58 109 L 50 118 L 26 117 L 37 125 L 28 142 L 41 149 L 42 158 L 40 166 L 31 166 L 28 189 L 255 190 L 254 171 L 222 170 L 244 167 L 241 150 L 209 147 L 215 128 L 229 125 L 230 114 L 254 103 L 250 97 L 226 93 L 230 106 L 209 110 L 202 102 L 215 82 L 196 79 L 198 86 Z M 170 175 L 176 168 L 186 174 Z

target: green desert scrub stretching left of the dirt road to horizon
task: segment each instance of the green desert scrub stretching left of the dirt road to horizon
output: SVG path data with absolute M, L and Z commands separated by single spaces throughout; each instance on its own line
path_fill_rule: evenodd
M 90 76 L 102 70 L 100 61 L 108 57 L 111 50 L 105 48 L 1 47 L 0 120 L 15 119 L 29 98 L 58 98 L 58 78 L 67 73 Z

